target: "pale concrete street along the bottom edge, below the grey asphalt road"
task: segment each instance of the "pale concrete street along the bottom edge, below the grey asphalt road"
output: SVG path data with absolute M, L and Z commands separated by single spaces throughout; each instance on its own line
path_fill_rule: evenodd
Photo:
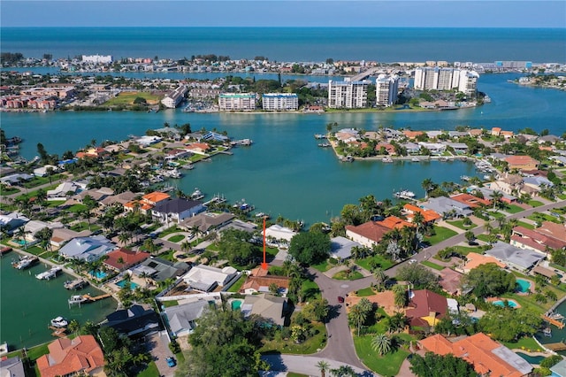
M 318 356 L 318 355 L 317 355 Z M 320 369 L 317 367 L 319 361 L 325 361 L 330 365 L 331 369 L 337 369 L 341 365 L 340 361 L 331 358 L 319 358 L 317 356 L 301 356 L 301 355 L 265 355 L 262 358 L 272 365 L 272 371 L 303 373 L 310 376 L 319 376 Z M 356 365 L 350 365 L 359 376 L 375 376 L 376 374 L 368 372 L 365 368 L 359 368 Z M 326 375 L 330 373 L 326 372 Z

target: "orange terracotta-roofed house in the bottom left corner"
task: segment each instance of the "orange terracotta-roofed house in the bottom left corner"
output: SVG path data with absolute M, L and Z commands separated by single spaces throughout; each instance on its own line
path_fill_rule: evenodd
M 93 335 L 79 335 L 73 340 L 57 339 L 50 343 L 48 349 L 50 353 L 37 359 L 42 377 L 103 373 L 103 350 Z

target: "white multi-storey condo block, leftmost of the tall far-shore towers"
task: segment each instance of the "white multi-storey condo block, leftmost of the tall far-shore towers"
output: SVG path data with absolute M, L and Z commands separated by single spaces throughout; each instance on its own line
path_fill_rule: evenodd
M 368 105 L 368 84 L 371 81 L 328 81 L 328 107 L 356 109 Z

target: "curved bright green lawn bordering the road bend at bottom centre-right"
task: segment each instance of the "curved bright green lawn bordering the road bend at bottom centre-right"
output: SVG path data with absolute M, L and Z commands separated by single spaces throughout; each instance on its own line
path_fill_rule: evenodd
M 379 356 L 378 353 L 371 348 L 372 338 L 373 335 L 354 335 L 354 346 L 356 347 L 357 357 L 373 372 L 379 373 L 384 377 L 397 375 L 403 360 L 409 356 L 409 351 L 399 349 L 384 356 Z

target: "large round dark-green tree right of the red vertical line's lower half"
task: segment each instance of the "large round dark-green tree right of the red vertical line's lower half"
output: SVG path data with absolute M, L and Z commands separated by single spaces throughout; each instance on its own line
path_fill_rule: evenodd
M 328 258 L 329 235 L 318 232 L 299 233 L 291 239 L 289 254 L 302 265 L 313 265 Z

